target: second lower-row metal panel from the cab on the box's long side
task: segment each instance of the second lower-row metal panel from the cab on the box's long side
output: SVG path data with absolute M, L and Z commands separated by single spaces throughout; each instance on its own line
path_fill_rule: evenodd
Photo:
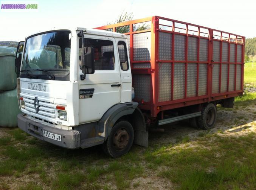
M 173 99 L 183 99 L 185 94 L 185 64 L 174 64 Z

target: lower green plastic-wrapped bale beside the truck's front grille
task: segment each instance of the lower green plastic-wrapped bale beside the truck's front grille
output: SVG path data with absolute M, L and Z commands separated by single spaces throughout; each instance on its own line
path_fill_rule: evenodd
M 17 115 L 21 113 L 17 99 L 17 90 L 0 92 L 0 126 L 17 127 Z

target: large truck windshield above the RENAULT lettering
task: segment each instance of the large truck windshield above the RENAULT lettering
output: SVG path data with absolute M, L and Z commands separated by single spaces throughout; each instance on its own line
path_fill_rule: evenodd
M 69 81 L 70 44 L 71 32 L 69 30 L 29 37 L 26 40 L 21 68 L 26 72 L 21 71 L 20 77 L 48 79 L 45 72 L 48 71 L 55 76 L 55 80 Z

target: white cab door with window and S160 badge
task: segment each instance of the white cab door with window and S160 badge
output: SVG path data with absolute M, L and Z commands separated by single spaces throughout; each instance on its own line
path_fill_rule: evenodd
M 109 108 L 121 102 L 121 77 L 115 39 L 86 34 L 84 38 L 85 47 L 94 48 L 95 73 L 86 74 L 84 80 L 80 79 L 83 73 L 79 56 L 79 124 L 98 121 Z M 80 38 L 80 50 L 81 42 Z

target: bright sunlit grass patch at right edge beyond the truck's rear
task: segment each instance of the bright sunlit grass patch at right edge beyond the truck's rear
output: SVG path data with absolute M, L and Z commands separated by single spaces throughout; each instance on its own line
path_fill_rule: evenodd
M 256 63 L 252 67 L 251 62 L 247 62 L 244 65 L 244 83 L 256 85 Z

